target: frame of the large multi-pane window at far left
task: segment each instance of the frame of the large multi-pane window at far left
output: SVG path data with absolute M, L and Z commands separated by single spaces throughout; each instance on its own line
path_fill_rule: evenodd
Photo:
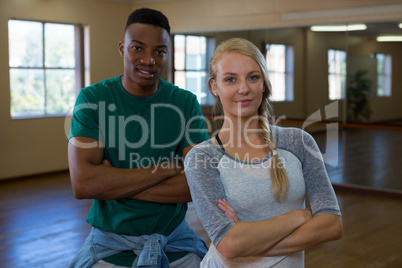
M 75 97 L 78 95 L 80 90 L 85 85 L 86 80 L 86 73 L 85 73 L 85 44 L 84 44 L 84 25 L 79 23 L 69 23 L 69 22 L 59 22 L 59 21 L 48 21 L 48 20 L 35 20 L 35 19 L 24 19 L 24 18 L 10 18 L 8 19 L 8 23 L 10 21 L 23 21 L 23 22 L 35 22 L 41 23 L 42 25 L 42 66 L 41 67 L 32 67 L 32 66 L 11 66 L 10 64 L 10 49 L 8 49 L 8 67 L 9 67 L 9 79 L 11 79 L 11 70 L 43 70 L 43 87 L 44 87 L 44 111 L 43 114 L 34 114 L 34 115 L 12 115 L 12 85 L 11 80 L 9 83 L 9 90 L 10 90 L 10 118 L 14 119 L 37 119 L 37 118 L 54 118 L 54 117 L 64 117 L 69 111 L 64 111 L 62 113 L 49 113 L 47 111 L 47 99 L 48 99 L 48 92 L 50 91 L 47 88 L 46 83 L 46 71 L 47 70 L 74 70 L 75 72 L 75 85 L 74 85 L 74 95 Z M 45 32 L 45 25 L 46 24 L 61 24 L 61 25 L 69 25 L 74 26 L 74 57 L 75 57 L 75 66 L 74 67 L 48 67 L 46 66 L 46 32 Z M 7 27 L 9 38 L 10 29 Z M 9 41 L 10 42 L 10 41 Z M 8 43 L 10 46 L 10 43 Z M 72 108 L 72 107 L 71 107 Z M 70 110 L 71 110 L 70 108 Z

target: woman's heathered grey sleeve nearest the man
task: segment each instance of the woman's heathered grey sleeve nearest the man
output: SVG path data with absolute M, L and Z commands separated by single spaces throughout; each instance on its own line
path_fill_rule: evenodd
M 206 143 L 190 150 L 184 169 L 198 217 L 212 243 L 217 246 L 234 224 L 218 207 L 218 200 L 226 199 L 217 168 L 220 158 L 208 152 L 208 148 L 199 149 Z

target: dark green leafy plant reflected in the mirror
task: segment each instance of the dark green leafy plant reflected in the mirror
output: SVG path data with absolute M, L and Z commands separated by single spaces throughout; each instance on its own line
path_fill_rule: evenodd
M 358 70 L 348 75 L 346 101 L 347 120 L 362 121 L 369 120 L 371 108 L 369 102 L 371 80 L 365 78 L 367 70 Z

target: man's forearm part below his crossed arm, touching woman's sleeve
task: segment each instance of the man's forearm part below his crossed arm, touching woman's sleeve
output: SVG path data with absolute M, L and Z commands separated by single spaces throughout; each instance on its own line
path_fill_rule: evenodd
M 158 203 L 191 202 L 190 189 L 184 174 L 168 178 L 129 198 Z

